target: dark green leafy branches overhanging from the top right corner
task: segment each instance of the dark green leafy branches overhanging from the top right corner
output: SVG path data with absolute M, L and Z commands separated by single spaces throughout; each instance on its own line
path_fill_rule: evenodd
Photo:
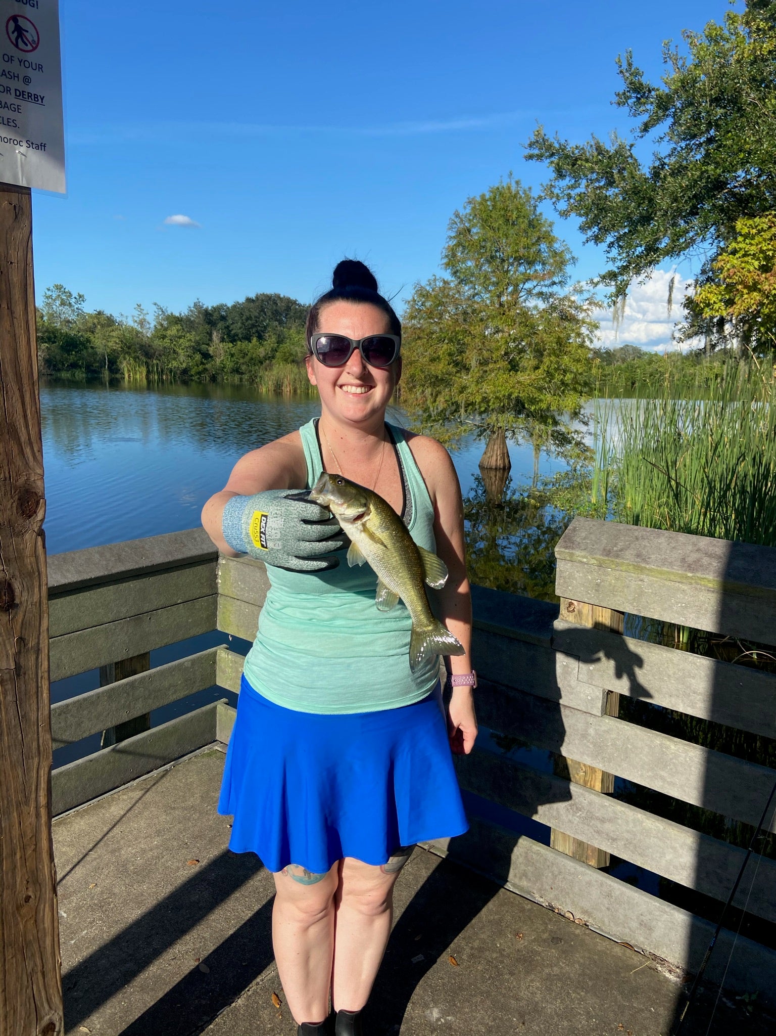
M 748 0 L 683 39 L 683 51 L 663 45 L 660 85 L 630 51 L 618 58 L 615 104 L 634 120 L 631 140 L 572 144 L 540 126 L 528 144 L 551 169 L 546 196 L 604 247 L 613 303 L 664 260 L 699 258 L 696 284 L 715 283 L 737 221 L 776 210 L 776 3 Z M 690 304 L 687 316 L 686 337 L 708 330 Z

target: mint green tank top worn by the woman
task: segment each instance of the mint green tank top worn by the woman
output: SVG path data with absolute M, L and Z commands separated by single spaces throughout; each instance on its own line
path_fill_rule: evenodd
M 417 544 L 436 552 L 434 505 L 423 477 L 402 430 L 386 427 L 404 485 L 402 520 Z M 299 432 L 309 488 L 323 471 L 317 420 Z M 410 670 L 409 611 L 401 601 L 378 611 L 377 575 L 368 565 L 350 568 L 345 555 L 340 551 L 339 565 L 321 573 L 267 566 L 271 586 L 245 679 L 270 701 L 297 712 L 379 712 L 420 701 L 437 683 L 439 659 Z

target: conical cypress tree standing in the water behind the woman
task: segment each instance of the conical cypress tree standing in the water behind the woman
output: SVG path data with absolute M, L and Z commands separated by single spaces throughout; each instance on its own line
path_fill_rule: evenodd
M 558 449 L 573 438 L 597 325 L 591 300 L 567 290 L 571 262 L 510 176 L 453 214 L 449 276 L 408 304 L 402 405 L 447 441 L 474 428 L 487 439 L 482 467 L 509 468 L 510 437 Z

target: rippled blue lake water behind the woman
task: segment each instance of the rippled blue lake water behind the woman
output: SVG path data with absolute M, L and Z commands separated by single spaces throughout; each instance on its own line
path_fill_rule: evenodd
M 242 385 L 43 384 L 46 544 L 50 554 L 180 531 L 235 462 L 320 413 L 317 400 L 261 396 Z M 392 408 L 388 420 L 404 425 Z M 453 452 L 464 494 L 484 443 Z M 530 482 L 533 451 L 510 444 L 512 484 Z M 561 462 L 542 455 L 541 472 Z

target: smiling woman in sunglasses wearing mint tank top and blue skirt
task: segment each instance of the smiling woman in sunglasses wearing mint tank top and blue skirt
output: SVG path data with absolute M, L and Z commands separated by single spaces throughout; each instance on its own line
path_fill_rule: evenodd
M 202 514 L 225 554 L 263 558 L 271 581 L 218 809 L 234 814 L 230 847 L 274 873 L 272 941 L 298 1033 L 348 1036 L 362 1032 L 414 844 L 468 829 L 450 751 L 474 745 L 476 678 L 458 481 L 435 439 L 385 423 L 401 325 L 363 263 L 337 265 L 306 332 L 320 419 L 242 457 Z M 337 522 L 299 493 L 322 470 L 374 489 L 447 566 L 429 597 L 466 650 L 449 663 L 447 728 L 438 659 L 410 669 L 406 607 L 377 609 L 375 573 L 348 566 Z

